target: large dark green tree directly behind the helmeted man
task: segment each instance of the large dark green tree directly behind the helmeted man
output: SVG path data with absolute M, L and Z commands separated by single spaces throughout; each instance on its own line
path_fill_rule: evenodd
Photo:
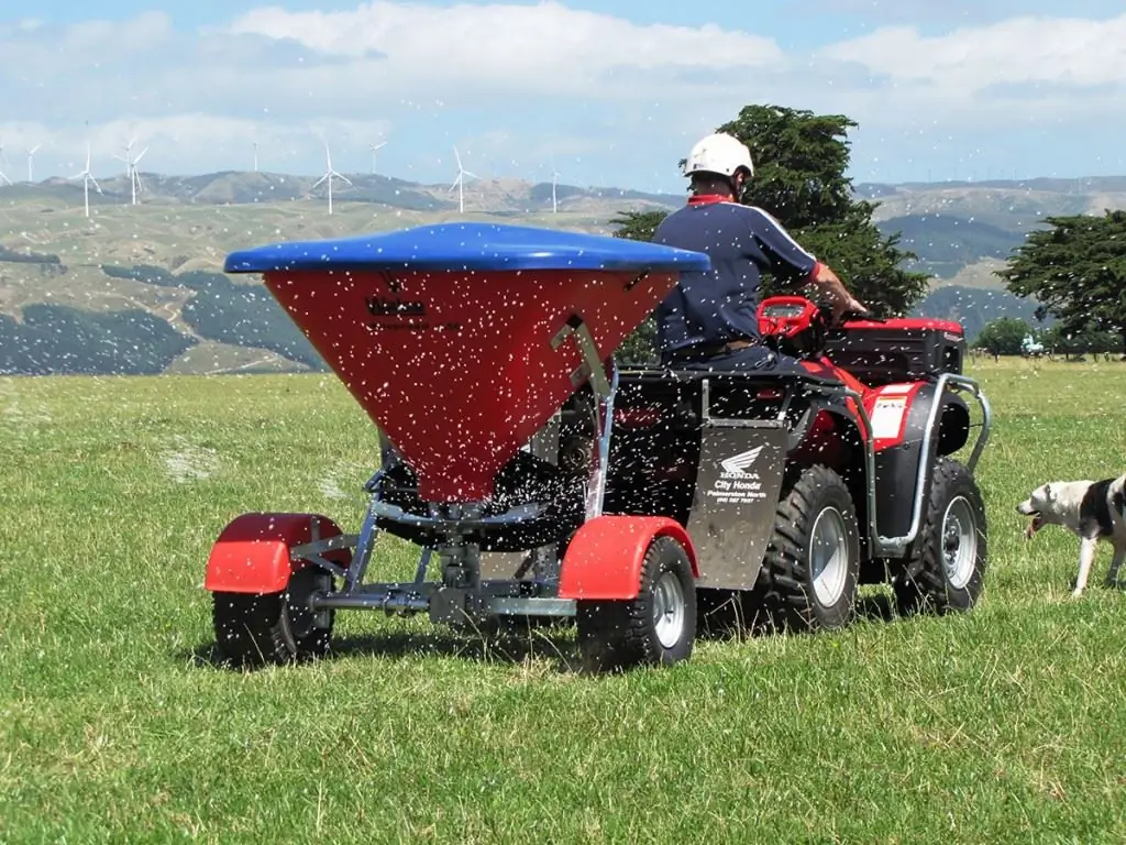
M 843 115 L 751 105 L 716 131 L 734 135 L 751 151 L 754 178 L 740 202 L 777 217 L 875 314 L 902 315 L 926 295 L 929 276 L 904 268 L 915 256 L 899 248 L 897 233 L 885 237 L 876 228 L 872 220 L 876 204 L 854 196 L 844 174 L 850 159 L 848 131 L 856 125 Z M 627 212 L 614 221 L 615 234 L 651 240 L 665 216 L 663 211 Z M 761 294 L 774 290 L 774 281 L 765 274 Z M 642 329 L 646 332 L 652 332 L 649 324 Z M 631 338 L 624 353 L 636 354 L 637 343 Z

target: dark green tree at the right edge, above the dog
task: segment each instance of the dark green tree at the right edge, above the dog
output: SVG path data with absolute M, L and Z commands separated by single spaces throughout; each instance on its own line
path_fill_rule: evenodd
M 1126 212 L 1047 217 L 997 275 L 1036 317 L 1058 318 L 1064 335 L 1112 331 L 1126 352 Z

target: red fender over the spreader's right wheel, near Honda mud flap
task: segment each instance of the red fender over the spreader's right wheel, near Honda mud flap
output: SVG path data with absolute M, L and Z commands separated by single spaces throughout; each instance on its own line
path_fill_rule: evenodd
M 696 548 L 676 519 L 599 516 L 584 523 L 568 545 L 560 571 L 560 598 L 636 598 L 642 561 L 656 537 L 680 543 L 688 553 L 692 577 L 699 578 Z

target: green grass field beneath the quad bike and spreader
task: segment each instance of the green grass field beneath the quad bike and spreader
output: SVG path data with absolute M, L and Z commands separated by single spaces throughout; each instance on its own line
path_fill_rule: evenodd
M 1072 601 L 1076 544 L 1025 542 L 1013 506 L 1126 471 L 1126 365 L 974 372 L 997 425 L 972 614 L 605 678 L 571 670 L 568 633 L 483 646 L 358 612 L 333 659 L 217 668 L 222 526 L 358 526 L 376 441 L 343 388 L 0 380 L 0 842 L 1123 842 L 1126 595 L 1102 550 Z

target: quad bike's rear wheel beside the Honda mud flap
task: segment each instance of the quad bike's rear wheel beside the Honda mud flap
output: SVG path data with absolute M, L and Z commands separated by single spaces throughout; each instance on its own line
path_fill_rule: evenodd
M 770 626 L 844 628 L 856 612 L 860 536 L 848 487 L 828 466 L 802 472 L 775 512 L 758 593 Z

